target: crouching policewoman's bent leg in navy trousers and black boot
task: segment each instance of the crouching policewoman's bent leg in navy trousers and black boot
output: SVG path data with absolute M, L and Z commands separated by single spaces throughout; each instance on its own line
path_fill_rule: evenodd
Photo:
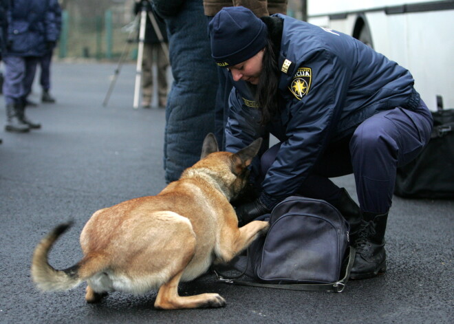
M 364 279 L 386 270 L 385 231 L 398 166 L 424 149 L 432 119 L 424 102 L 416 111 L 395 108 L 368 118 L 355 131 L 350 147 L 363 224 L 355 237 L 350 277 Z

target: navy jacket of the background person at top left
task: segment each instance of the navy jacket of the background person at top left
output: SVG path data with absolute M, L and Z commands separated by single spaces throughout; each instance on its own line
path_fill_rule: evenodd
M 8 55 L 42 56 L 47 43 L 56 42 L 58 30 L 49 0 L 10 0 L 8 8 Z

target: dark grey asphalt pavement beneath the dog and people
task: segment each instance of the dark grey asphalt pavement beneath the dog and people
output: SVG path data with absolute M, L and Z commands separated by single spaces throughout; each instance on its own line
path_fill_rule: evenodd
M 72 266 L 78 236 L 92 213 L 165 186 L 165 111 L 132 109 L 134 65 L 122 67 L 102 107 L 115 63 L 54 63 L 55 104 L 27 110 L 43 128 L 3 131 L 0 105 L 0 323 L 453 323 L 454 201 L 393 199 L 386 233 L 388 270 L 349 281 L 345 292 L 295 292 L 233 286 L 213 274 L 180 285 L 180 294 L 217 292 L 226 307 L 155 310 L 156 292 L 109 294 L 85 303 L 85 283 L 42 293 L 30 279 L 34 246 L 51 228 L 74 226 L 50 253 Z M 209 86 L 209 85 L 207 85 Z M 35 85 L 30 97 L 39 102 Z M 353 177 L 334 180 L 356 198 Z

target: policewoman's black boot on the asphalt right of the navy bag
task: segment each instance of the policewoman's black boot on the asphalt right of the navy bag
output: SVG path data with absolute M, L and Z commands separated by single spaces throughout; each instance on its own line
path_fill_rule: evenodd
M 386 271 L 385 230 L 388 213 L 363 213 L 364 220 L 354 241 L 355 261 L 350 279 L 376 277 Z

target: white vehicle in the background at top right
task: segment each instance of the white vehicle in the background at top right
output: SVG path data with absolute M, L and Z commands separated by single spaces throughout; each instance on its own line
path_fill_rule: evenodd
M 454 108 L 454 1 L 308 0 L 308 22 L 354 36 L 409 69 L 431 110 Z M 438 99 L 437 99 L 438 96 Z

